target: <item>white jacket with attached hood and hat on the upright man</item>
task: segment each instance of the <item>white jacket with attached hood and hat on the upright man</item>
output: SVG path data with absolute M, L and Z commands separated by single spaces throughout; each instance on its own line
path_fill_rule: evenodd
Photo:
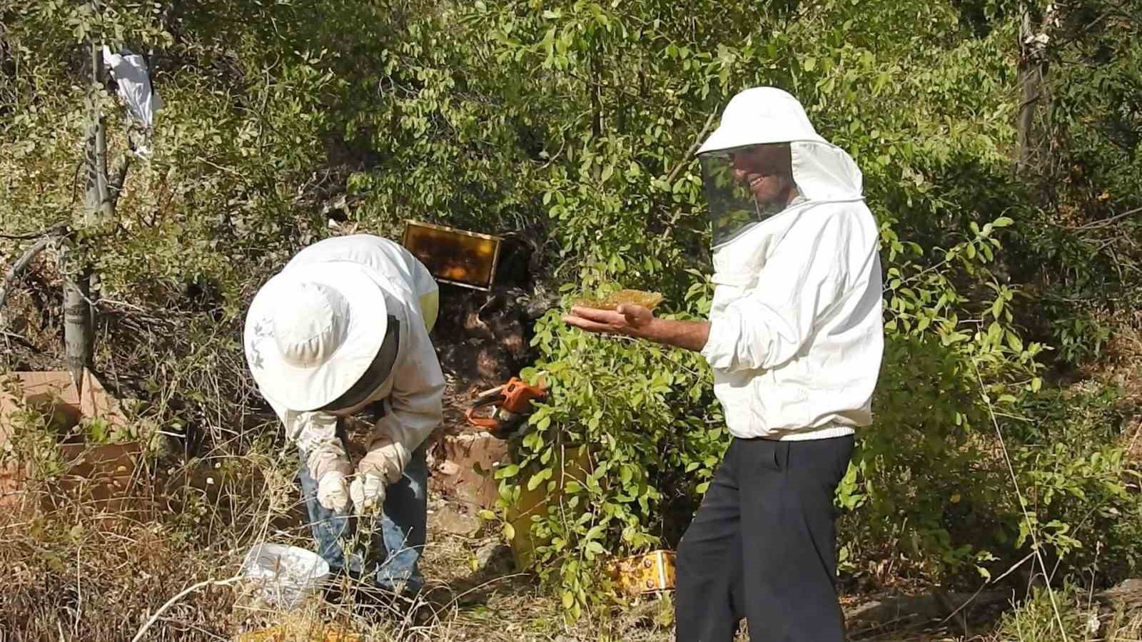
M 701 354 L 738 438 L 825 439 L 871 423 L 884 346 L 878 228 L 852 158 L 795 98 L 749 89 L 699 153 L 790 144 L 799 195 L 714 252 Z

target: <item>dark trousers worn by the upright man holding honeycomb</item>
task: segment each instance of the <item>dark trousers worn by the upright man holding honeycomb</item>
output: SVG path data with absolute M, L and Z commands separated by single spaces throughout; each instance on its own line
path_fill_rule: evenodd
M 853 436 L 734 439 L 678 545 L 677 642 L 844 642 L 834 493 Z

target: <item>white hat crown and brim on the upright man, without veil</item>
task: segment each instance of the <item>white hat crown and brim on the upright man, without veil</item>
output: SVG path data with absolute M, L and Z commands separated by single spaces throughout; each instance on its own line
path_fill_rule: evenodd
M 722 122 L 697 153 L 794 142 L 826 143 L 797 98 L 777 87 L 753 87 L 730 98 Z

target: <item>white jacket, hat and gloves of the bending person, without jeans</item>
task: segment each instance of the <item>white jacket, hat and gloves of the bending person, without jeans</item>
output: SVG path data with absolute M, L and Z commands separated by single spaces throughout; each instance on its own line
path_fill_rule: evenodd
M 428 338 L 437 292 L 407 249 L 356 234 L 301 250 L 251 303 L 250 369 L 289 439 L 307 454 L 322 506 L 339 509 L 347 493 L 359 512 L 362 500 L 383 503 L 384 483 L 400 479 L 441 423 L 444 376 Z M 349 489 L 345 480 L 354 471 L 336 434 L 337 416 L 378 400 L 385 414 Z

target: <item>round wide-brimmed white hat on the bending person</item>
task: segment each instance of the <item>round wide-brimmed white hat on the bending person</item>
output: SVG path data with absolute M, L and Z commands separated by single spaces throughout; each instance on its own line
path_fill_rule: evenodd
M 290 410 L 316 410 L 361 378 L 385 339 L 379 275 L 353 262 L 289 267 L 255 295 L 246 360 L 258 388 Z

